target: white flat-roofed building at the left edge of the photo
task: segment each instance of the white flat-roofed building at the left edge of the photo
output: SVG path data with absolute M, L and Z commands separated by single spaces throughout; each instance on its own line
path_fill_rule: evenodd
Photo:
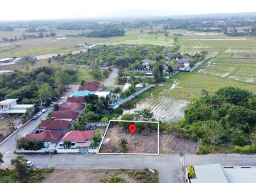
M 18 99 L 6 99 L 0 102 L 0 114 L 17 115 L 26 113 L 27 109 L 35 111 L 34 104 L 17 104 Z

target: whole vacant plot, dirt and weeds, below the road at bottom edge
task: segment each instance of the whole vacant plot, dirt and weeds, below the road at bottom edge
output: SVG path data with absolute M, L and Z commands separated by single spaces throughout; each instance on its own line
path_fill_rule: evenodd
M 112 179 L 112 180 L 111 180 Z M 116 182 L 117 180 L 129 183 L 140 183 L 147 180 L 151 183 L 158 182 L 158 173 L 151 173 L 148 170 L 54 170 L 49 177 L 43 180 L 44 183 L 76 182 L 76 183 L 104 183 Z

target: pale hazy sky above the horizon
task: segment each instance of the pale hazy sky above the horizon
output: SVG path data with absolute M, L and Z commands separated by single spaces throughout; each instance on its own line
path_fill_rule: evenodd
M 255 0 L 0 0 L 0 20 L 256 12 Z

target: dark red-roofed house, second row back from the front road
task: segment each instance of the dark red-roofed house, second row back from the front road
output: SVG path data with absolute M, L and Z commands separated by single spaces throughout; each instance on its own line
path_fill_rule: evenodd
M 71 122 L 67 120 L 42 120 L 38 131 L 61 131 L 66 132 L 71 127 Z

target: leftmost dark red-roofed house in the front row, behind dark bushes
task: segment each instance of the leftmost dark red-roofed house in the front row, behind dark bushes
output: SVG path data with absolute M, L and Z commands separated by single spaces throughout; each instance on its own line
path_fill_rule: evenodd
M 60 141 L 62 132 L 57 131 L 43 131 L 38 134 L 26 134 L 26 141 L 40 140 L 44 142 L 44 147 L 49 147 L 51 143 L 58 143 Z

